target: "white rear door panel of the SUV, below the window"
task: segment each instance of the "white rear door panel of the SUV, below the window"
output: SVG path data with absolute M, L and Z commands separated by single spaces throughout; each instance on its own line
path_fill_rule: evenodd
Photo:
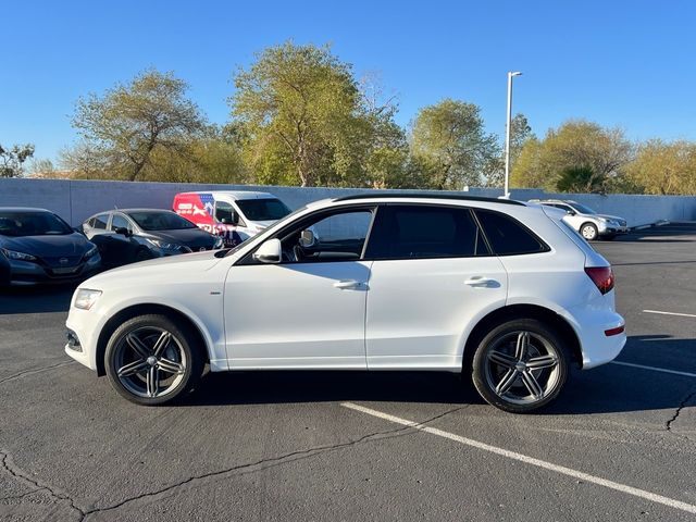
M 375 261 L 372 275 L 371 370 L 459 370 L 463 326 L 482 309 L 504 307 L 508 290 L 508 274 L 495 256 Z

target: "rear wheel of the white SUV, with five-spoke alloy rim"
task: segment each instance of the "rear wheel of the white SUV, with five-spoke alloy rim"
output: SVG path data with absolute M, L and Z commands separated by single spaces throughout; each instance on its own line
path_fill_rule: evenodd
M 568 371 L 561 337 L 535 319 L 508 321 L 490 330 L 472 361 L 476 390 L 489 405 L 512 413 L 527 413 L 556 399 Z

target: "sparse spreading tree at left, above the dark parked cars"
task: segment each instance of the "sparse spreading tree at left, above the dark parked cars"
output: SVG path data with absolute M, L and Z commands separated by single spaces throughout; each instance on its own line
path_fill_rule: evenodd
M 142 177 L 153 156 L 185 151 L 204 129 L 198 107 L 186 98 L 187 89 L 172 73 L 150 70 L 103 96 L 79 99 L 73 126 L 83 141 L 63 154 L 63 163 L 84 173 Z

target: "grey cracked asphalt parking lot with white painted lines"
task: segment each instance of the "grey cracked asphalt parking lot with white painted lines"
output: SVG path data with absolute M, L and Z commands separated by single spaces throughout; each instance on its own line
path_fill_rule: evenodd
M 696 520 L 696 224 L 595 247 L 629 343 L 535 415 L 435 373 L 211 374 L 137 407 L 63 353 L 72 290 L 0 295 L 0 518 Z

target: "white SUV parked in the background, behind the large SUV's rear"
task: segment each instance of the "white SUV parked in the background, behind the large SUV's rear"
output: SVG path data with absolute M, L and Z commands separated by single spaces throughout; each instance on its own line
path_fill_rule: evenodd
M 570 199 L 531 199 L 530 202 L 556 207 L 566 212 L 563 221 L 575 228 L 582 236 L 594 239 L 613 239 L 619 234 L 629 232 L 626 220 L 618 215 L 598 214 L 586 204 Z

